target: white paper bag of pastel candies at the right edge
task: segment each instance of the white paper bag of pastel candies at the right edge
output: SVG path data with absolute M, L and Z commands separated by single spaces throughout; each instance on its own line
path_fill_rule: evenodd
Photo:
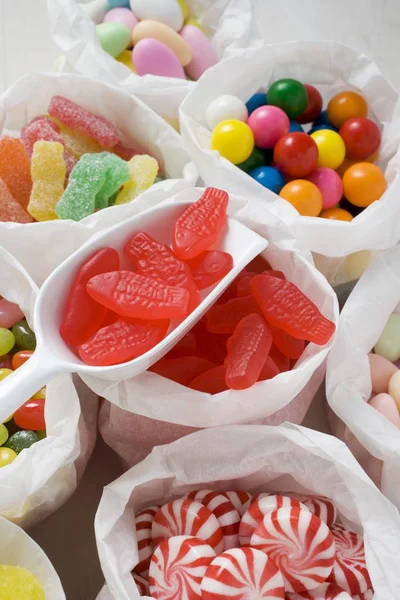
M 329 405 L 342 421 L 333 423 L 335 435 L 400 508 L 400 431 L 367 404 L 368 353 L 393 312 L 400 313 L 399 246 L 377 256 L 349 296 L 328 359 L 326 387 Z

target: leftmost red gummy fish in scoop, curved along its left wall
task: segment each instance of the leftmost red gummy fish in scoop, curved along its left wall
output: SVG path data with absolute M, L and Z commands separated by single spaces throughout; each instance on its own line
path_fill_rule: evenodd
M 81 346 L 100 329 L 107 310 L 89 296 L 86 284 L 95 275 L 118 268 L 119 256 L 114 248 L 97 250 L 81 265 L 70 287 L 60 327 L 65 342 Z

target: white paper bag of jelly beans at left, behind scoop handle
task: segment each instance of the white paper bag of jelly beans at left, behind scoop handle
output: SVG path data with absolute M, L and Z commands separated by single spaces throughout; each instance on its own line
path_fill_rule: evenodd
M 33 328 L 37 293 L 26 271 L 0 247 L 0 296 L 18 304 Z M 64 504 L 76 490 L 92 453 L 97 411 L 97 396 L 78 377 L 63 374 L 49 382 L 47 437 L 0 469 L 0 515 L 29 527 Z

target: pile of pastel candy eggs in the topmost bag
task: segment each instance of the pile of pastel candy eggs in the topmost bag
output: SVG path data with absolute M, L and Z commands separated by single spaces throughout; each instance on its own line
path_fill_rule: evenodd
M 134 73 L 197 80 L 217 62 L 185 0 L 108 0 L 108 5 L 111 10 L 96 27 L 100 44 Z

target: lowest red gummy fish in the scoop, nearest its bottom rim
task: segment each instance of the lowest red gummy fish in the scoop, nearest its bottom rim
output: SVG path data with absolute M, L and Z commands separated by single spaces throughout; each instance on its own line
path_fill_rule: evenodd
M 133 360 L 156 346 L 165 337 L 169 321 L 117 321 L 97 331 L 79 348 L 87 365 L 107 367 Z

